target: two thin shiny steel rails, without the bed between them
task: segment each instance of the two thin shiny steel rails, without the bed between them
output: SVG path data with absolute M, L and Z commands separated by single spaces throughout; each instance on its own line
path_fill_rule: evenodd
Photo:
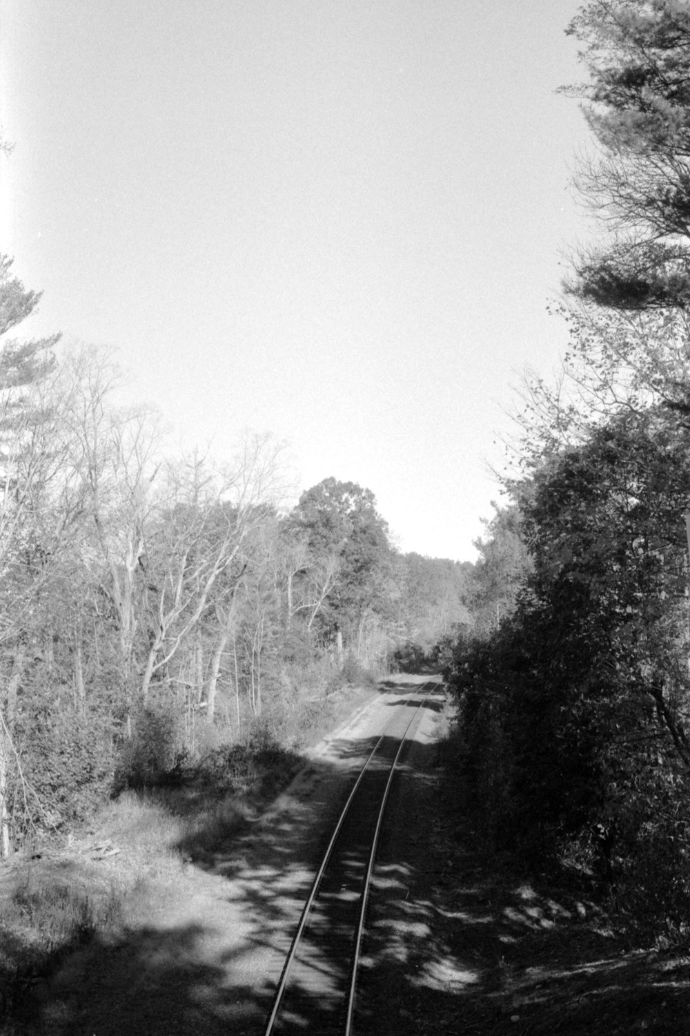
M 438 687 L 439 686 L 436 681 L 426 681 L 424 684 L 421 684 L 420 687 L 419 687 L 419 689 L 416 690 L 416 691 L 414 691 L 413 693 L 420 694 L 420 693 L 424 692 L 424 690 L 429 685 L 431 687 Z M 402 747 L 404 745 L 404 739 L 407 738 L 408 731 L 410 730 L 410 727 L 412 726 L 412 723 L 414 722 L 416 716 L 418 715 L 418 713 L 419 713 L 419 711 L 420 711 L 420 709 L 422 708 L 423 704 L 424 704 L 424 700 L 422 699 L 422 701 L 419 702 L 417 709 L 415 710 L 415 713 L 414 713 L 412 719 L 410 720 L 410 722 L 408 723 L 408 726 L 406 727 L 406 730 L 404 730 L 404 733 L 402 735 L 402 738 L 400 739 L 400 745 L 398 746 L 397 752 L 395 754 L 395 758 L 394 758 L 394 760 L 392 762 L 392 766 L 391 766 L 391 769 L 390 769 L 390 772 L 389 772 L 389 775 L 388 775 L 388 781 L 386 783 L 386 788 L 385 788 L 385 792 L 384 792 L 384 796 L 383 796 L 383 800 L 382 800 L 382 805 L 381 805 L 381 808 L 380 808 L 380 811 L 379 811 L 379 817 L 378 817 L 378 822 L 377 822 L 377 828 L 376 828 L 376 832 L 374 832 L 374 835 L 373 835 L 371 851 L 370 851 L 370 854 L 369 854 L 369 861 L 368 861 L 367 873 L 366 873 L 365 883 L 364 883 L 364 889 L 363 889 L 362 896 L 360 897 L 361 898 L 361 902 L 362 902 L 362 909 L 361 909 L 361 912 L 360 912 L 359 927 L 358 927 L 358 932 L 357 932 L 357 944 L 356 944 L 354 967 L 353 967 L 353 978 L 352 978 L 352 982 L 351 982 L 350 998 L 349 998 L 349 1001 L 348 1001 L 348 1030 L 347 1030 L 348 1034 L 350 1033 L 350 1027 L 351 1027 L 351 1023 L 352 1023 L 352 1005 L 353 1005 L 353 1002 L 354 1002 L 355 975 L 356 975 L 356 972 L 357 972 L 358 955 L 359 955 L 359 949 L 360 949 L 360 946 L 361 946 L 362 932 L 363 932 L 363 926 L 364 926 L 364 908 L 365 908 L 365 904 L 366 904 L 366 897 L 367 897 L 367 892 L 368 892 L 370 876 L 371 876 L 371 873 L 373 872 L 373 861 L 374 861 L 374 855 L 376 855 L 376 846 L 377 846 L 377 843 L 378 843 L 379 833 L 380 833 L 381 826 L 382 826 L 382 823 L 383 823 L 383 812 L 384 812 L 384 809 L 385 809 L 385 806 L 386 806 L 386 802 L 388 800 L 388 794 L 389 794 L 390 786 L 391 786 L 391 783 L 392 783 L 393 773 L 394 773 L 394 771 L 396 769 L 398 758 L 400 756 L 400 753 L 402 751 Z M 307 923 L 307 919 L 308 919 L 309 913 L 310 913 L 311 908 L 313 905 L 314 899 L 317 898 L 317 895 L 319 893 L 320 886 L 321 886 L 321 883 L 322 883 L 322 879 L 324 877 L 326 869 L 327 869 L 327 867 L 328 867 L 328 865 L 329 865 L 329 863 L 331 861 L 331 857 L 332 857 L 332 854 L 333 854 L 333 848 L 334 848 L 335 843 L 337 841 L 338 835 L 340 834 L 340 831 L 341 831 L 341 829 L 343 827 L 343 824 L 344 824 L 346 818 L 348 816 L 348 813 L 350 811 L 350 807 L 352 805 L 352 802 L 353 802 L 353 800 L 354 800 L 354 798 L 355 798 L 355 796 L 356 796 L 356 794 L 357 794 L 357 792 L 358 792 L 358 789 L 359 789 L 359 787 L 360 787 L 360 785 L 361 785 L 361 783 L 362 783 L 362 781 L 363 781 L 363 779 L 364 779 L 364 777 L 366 775 L 366 772 L 367 772 L 367 770 L 369 768 L 369 764 L 371 762 L 372 758 L 374 757 L 374 755 L 379 751 L 379 748 L 381 747 L 382 742 L 384 741 L 384 739 L 388 735 L 388 730 L 390 729 L 390 727 L 392 726 L 392 724 L 394 723 L 394 721 L 395 721 L 395 716 L 392 716 L 390 722 L 386 726 L 386 729 L 381 735 L 381 737 L 377 741 L 376 745 L 373 746 L 373 748 L 369 752 L 369 755 L 367 756 L 366 761 L 364 762 L 363 767 L 361 768 L 361 770 L 359 772 L 357 780 L 355 781 L 355 784 L 352 787 L 352 790 L 350 792 L 350 795 L 348 796 L 348 800 L 347 800 L 344 806 L 342 807 L 342 810 L 340 812 L 338 821 L 337 821 L 337 823 L 335 825 L 335 828 L 334 828 L 333 833 L 331 835 L 330 841 L 328 843 L 328 847 L 326 848 L 326 853 L 324 854 L 324 858 L 322 860 L 321 866 L 319 867 L 317 875 L 316 875 L 316 877 L 313 880 L 313 883 L 311 885 L 311 888 L 309 890 L 309 894 L 307 896 L 307 899 L 306 899 L 306 901 L 304 903 L 304 906 L 302 908 L 302 912 L 300 914 L 300 919 L 299 919 L 299 923 L 298 923 L 298 926 L 297 926 L 297 930 L 296 930 L 295 936 L 293 937 L 292 943 L 290 945 L 290 949 L 288 951 L 288 956 L 286 958 L 286 962 L 284 962 L 283 968 L 282 968 L 282 973 L 280 975 L 280 979 L 278 981 L 278 984 L 277 984 L 275 992 L 274 992 L 273 1008 L 272 1008 L 271 1013 L 269 1015 L 269 1018 L 268 1018 L 268 1021 L 267 1021 L 267 1025 L 266 1025 L 266 1029 L 264 1030 L 265 1036 L 271 1036 L 271 1034 L 274 1031 L 274 1026 L 275 1026 L 278 1013 L 280 1011 L 283 994 L 286 991 L 286 987 L 287 987 L 288 982 L 290 980 L 292 967 L 293 967 L 293 963 L 294 963 L 296 955 L 297 955 L 297 950 L 298 950 L 299 945 L 300 945 L 300 940 L 301 940 L 302 934 L 304 932 L 304 928 L 306 927 L 306 923 Z

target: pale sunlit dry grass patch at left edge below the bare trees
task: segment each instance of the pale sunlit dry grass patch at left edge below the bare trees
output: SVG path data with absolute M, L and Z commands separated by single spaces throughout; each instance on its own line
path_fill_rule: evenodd
M 174 885 L 188 845 L 228 837 L 246 807 L 199 801 L 183 790 L 125 792 L 90 831 L 66 845 L 18 854 L 0 870 L 0 1013 L 31 991 L 74 948 L 94 934 L 114 936 L 142 900 Z M 94 860 L 94 843 L 112 856 Z

